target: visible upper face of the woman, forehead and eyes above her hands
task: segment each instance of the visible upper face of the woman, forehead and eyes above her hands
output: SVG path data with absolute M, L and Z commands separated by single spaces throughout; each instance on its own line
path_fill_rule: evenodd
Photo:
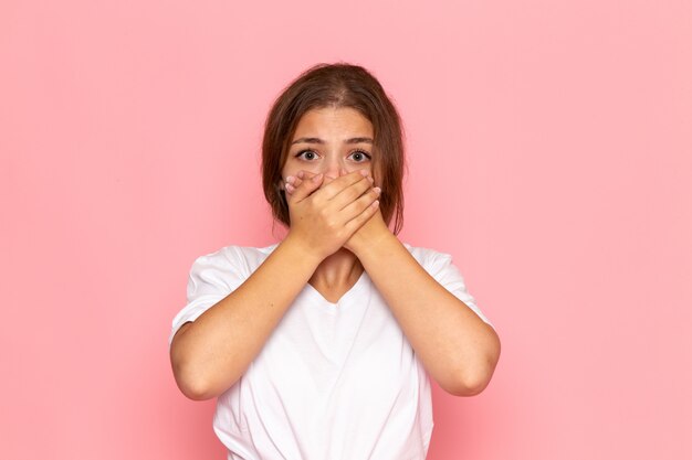
M 291 139 L 281 170 L 283 181 L 301 170 L 336 179 L 342 168 L 346 172 L 365 169 L 373 175 L 373 124 L 349 107 L 306 111 Z

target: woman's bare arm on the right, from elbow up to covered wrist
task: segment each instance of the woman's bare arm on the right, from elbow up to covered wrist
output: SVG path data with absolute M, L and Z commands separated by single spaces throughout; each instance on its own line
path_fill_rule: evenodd
M 493 328 L 418 264 L 379 211 L 346 247 L 358 257 L 438 384 L 455 396 L 482 392 L 500 359 Z

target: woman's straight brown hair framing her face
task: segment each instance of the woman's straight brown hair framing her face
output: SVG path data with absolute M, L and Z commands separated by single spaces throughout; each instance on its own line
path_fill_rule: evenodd
M 374 170 L 382 190 L 379 208 L 387 224 L 395 216 L 395 235 L 403 224 L 405 163 L 401 118 L 377 78 L 358 65 L 317 64 L 303 72 L 276 98 L 264 125 L 262 186 L 275 220 L 291 225 L 281 170 L 303 115 L 324 107 L 350 107 L 373 124 Z

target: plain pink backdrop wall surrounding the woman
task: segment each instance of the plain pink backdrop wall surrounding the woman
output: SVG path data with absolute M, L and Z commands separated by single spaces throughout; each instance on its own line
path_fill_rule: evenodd
M 264 116 L 345 60 L 405 119 L 401 239 L 502 338 L 428 458 L 692 458 L 691 44 L 684 1 L 2 1 L 0 457 L 224 458 L 170 323 L 275 240 Z

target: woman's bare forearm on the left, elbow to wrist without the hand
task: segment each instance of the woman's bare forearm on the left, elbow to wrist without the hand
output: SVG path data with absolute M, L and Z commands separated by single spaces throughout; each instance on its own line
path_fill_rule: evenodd
M 186 396 L 209 399 L 242 376 L 319 265 L 311 254 L 286 237 L 238 289 L 176 334 L 170 359 Z

